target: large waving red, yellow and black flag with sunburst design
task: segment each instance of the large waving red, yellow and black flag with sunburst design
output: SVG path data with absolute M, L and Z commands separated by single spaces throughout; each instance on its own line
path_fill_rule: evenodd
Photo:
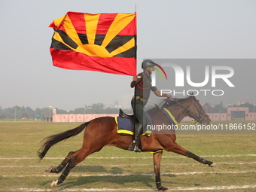
M 136 14 L 68 12 L 49 27 L 53 66 L 136 76 Z

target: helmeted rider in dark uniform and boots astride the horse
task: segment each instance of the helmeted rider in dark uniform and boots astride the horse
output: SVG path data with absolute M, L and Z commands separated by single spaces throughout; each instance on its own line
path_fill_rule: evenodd
M 133 77 L 133 81 L 130 84 L 130 87 L 135 87 L 135 96 L 133 96 L 131 104 L 133 107 L 133 113 L 135 114 L 136 119 L 139 121 L 139 126 L 134 127 L 133 137 L 133 148 L 136 152 L 142 151 L 139 146 L 140 135 L 142 134 L 143 127 L 146 126 L 147 122 L 143 108 L 148 102 L 151 91 L 153 91 L 156 96 L 172 98 L 172 96 L 166 93 L 161 94 L 160 91 L 157 90 L 157 87 L 152 86 L 151 74 L 154 71 L 154 66 L 154 62 L 150 59 L 143 61 L 143 72 L 139 73 L 137 77 Z

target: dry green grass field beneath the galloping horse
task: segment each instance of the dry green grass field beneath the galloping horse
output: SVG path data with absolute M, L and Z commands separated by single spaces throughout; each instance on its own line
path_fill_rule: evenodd
M 0 191 L 156 190 L 152 154 L 114 147 L 90 155 L 72 169 L 66 181 L 50 189 L 50 182 L 61 173 L 47 173 L 44 169 L 59 165 L 69 151 L 81 148 L 83 134 L 53 146 L 41 161 L 37 157 L 40 142 L 80 124 L 0 121 Z M 209 168 L 163 151 L 161 178 L 169 191 L 256 190 L 255 134 L 178 134 L 176 142 L 218 166 Z

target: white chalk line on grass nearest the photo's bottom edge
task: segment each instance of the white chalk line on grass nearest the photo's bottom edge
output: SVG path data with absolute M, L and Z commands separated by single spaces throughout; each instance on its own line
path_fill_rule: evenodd
M 211 187 L 169 187 L 169 190 L 227 190 L 227 189 L 253 189 L 256 188 L 256 184 L 250 184 L 250 185 L 226 185 L 226 186 L 211 186 Z M 17 190 L 23 190 L 23 191 L 53 191 L 52 189 L 46 189 L 46 188 L 17 188 L 17 189 L 10 189 L 9 191 L 17 191 Z M 155 190 L 154 188 L 123 188 L 123 189 L 111 189 L 111 188 L 64 188 L 62 191 L 148 191 L 148 190 Z

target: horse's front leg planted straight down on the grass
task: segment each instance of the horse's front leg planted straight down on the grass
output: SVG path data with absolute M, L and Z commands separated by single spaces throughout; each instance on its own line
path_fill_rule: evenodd
M 161 184 L 161 178 L 160 178 L 160 162 L 162 157 L 163 151 L 153 154 L 153 160 L 154 160 L 154 175 L 156 176 L 156 185 L 158 190 L 167 190 L 168 188 L 163 187 Z

